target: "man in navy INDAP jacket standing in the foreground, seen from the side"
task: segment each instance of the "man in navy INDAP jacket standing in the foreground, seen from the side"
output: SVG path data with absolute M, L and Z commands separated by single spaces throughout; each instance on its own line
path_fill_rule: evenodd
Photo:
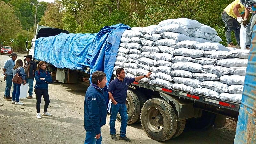
M 84 100 L 84 129 L 86 137 L 84 144 L 101 144 L 101 127 L 106 124 L 108 89 L 106 74 L 95 71 L 92 83 L 88 87 Z

